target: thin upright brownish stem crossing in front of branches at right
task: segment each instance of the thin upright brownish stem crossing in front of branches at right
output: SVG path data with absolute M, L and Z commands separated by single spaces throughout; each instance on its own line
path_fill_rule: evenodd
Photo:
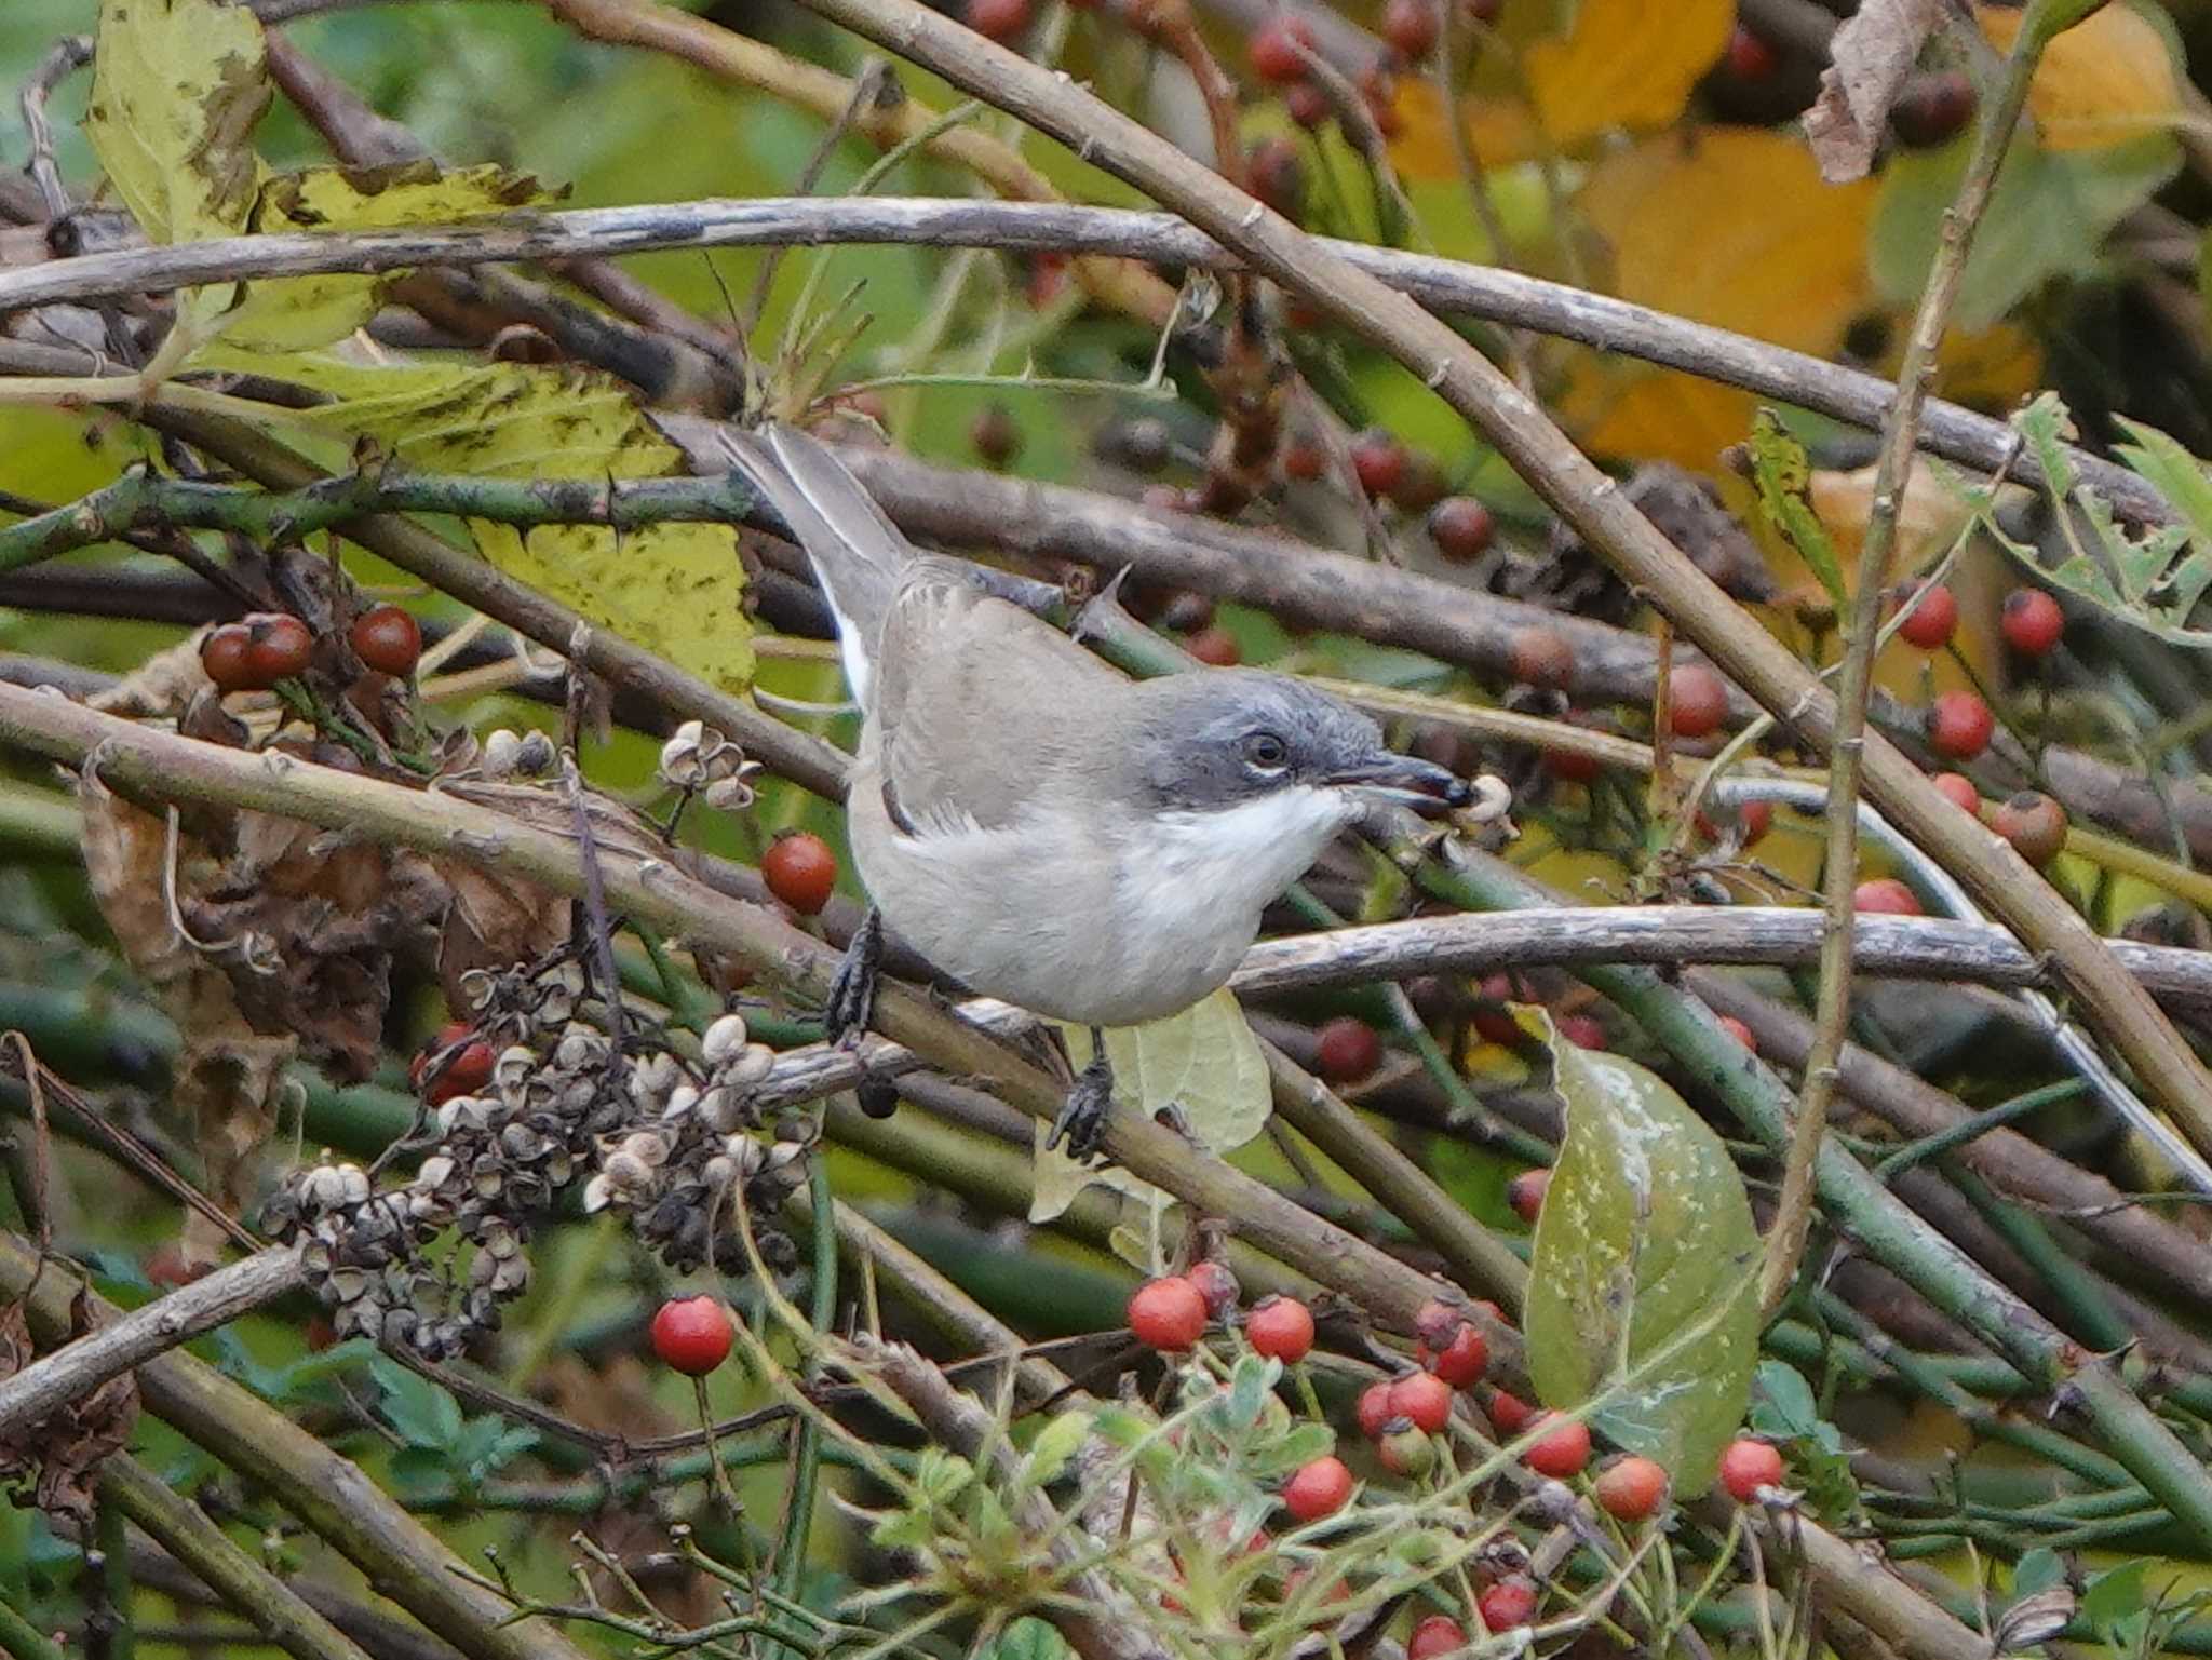
M 1882 591 L 1889 582 L 1889 560 L 1898 538 L 1898 511 L 1911 487 L 1913 449 L 1920 434 L 1920 409 L 1936 381 L 1936 354 L 1942 347 L 1951 305 L 1958 301 L 1982 221 L 1997 184 L 1997 166 L 2011 146 L 2013 128 L 2028 102 L 2028 80 L 2042 58 L 2044 22 L 2051 0 L 2035 0 L 2020 27 L 2004 82 L 1973 139 L 1966 175 L 1958 199 L 1942 221 L 1942 241 L 1920 312 L 1913 317 L 1911 341 L 1898 370 L 1898 401 L 1882 423 L 1882 449 L 1874 471 L 1874 505 L 1867 513 L 1865 540 L 1858 549 L 1851 618 L 1845 633 L 1843 684 L 1836 691 L 1834 737 L 1829 739 L 1827 786 L 1827 874 L 1825 934 L 1820 941 L 1820 994 L 1814 1007 L 1814 1042 L 1805 1058 L 1805 1087 L 1798 1096 L 1796 1129 L 1790 1138 L 1790 1160 L 1783 1166 L 1783 1193 L 1774 1224 L 1767 1231 L 1767 1253 L 1759 1268 L 1759 1310 L 1772 1319 L 1781 1308 L 1805 1237 L 1812 1228 L 1814 1158 L 1827 1127 L 1827 1109 L 1836 1098 L 1836 1065 L 1843 1054 L 1845 1023 L 1851 1014 L 1851 905 L 1858 883 L 1858 784 L 1867 728 L 1867 691 L 1874 679 L 1874 644 L 1882 626 Z

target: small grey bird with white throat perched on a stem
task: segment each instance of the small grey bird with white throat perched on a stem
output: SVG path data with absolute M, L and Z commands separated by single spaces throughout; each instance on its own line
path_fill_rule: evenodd
M 869 910 L 825 1025 L 874 1009 L 883 930 L 973 994 L 1091 1029 L 1048 1147 L 1099 1153 L 1104 1027 L 1181 1014 L 1228 983 L 1261 912 L 1376 803 L 1471 788 L 1400 755 L 1365 713 L 1290 675 L 1130 679 L 916 549 L 818 438 L 723 429 L 805 553 L 860 706 L 847 837 Z

